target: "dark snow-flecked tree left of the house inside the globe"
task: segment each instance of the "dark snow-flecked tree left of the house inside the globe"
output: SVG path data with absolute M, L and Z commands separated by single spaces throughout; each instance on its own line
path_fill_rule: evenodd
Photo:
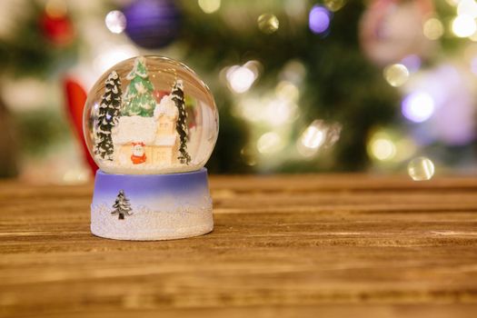
M 116 72 L 111 72 L 104 87 L 104 95 L 98 109 L 98 124 L 94 133 L 94 154 L 105 160 L 113 160 L 111 129 L 117 123 L 121 108 L 121 78 Z

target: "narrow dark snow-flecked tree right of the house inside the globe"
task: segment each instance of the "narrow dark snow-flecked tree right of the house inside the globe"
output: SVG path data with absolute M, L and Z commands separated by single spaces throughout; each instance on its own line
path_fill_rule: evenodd
M 191 156 L 187 153 L 187 112 L 185 110 L 184 85 L 182 80 L 177 80 L 174 83 L 171 95 L 175 106 L 179 110 L 179 117 L 177 118 L 177 123 L 175 124 L 175 130 L 181 139 L 181 144 L 179 145 L 179 152 L 181 154 L 179 154 L 177 159 L 179 159 L 181 164 L 189 164 L 191 162 Z

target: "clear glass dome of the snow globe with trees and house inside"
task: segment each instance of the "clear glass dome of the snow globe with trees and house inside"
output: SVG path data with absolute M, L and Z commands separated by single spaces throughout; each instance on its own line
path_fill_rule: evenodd
M 204 167 L 218 134 L 209 88 L 186 65 L 161 56 L 124 60 L 94 84 L 84 139 L 108 174 L 174 174 Z

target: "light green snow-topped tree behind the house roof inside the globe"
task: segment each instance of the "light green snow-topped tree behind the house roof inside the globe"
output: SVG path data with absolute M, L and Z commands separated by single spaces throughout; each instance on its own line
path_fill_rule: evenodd
M 152 117 L 155 99 L 154 86 L 149 80 L 145 59 L 139 56 L 134 61 L 133 70 L 126 76 L 131 81 L 126 87 L 123 98 L 122 115 Z

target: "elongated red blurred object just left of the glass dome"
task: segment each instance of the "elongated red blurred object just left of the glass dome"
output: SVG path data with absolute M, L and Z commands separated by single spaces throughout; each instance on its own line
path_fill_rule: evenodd
M 63 80 L 63 85 L 65 89 L 68 114 L 75 127 L 75 134 L 78 137 L 79 143 L 82 145 L 84 160 L 88 163 L 91 173 L 94 175 L 96 170 L 98 170 L 98 166 L 94 163 L 94 160 L 84 143 L 83 134 L 83 109 L 84 103 L 86 103 L 86 92 L 83 86 L 72 77 L 66 77 Z

